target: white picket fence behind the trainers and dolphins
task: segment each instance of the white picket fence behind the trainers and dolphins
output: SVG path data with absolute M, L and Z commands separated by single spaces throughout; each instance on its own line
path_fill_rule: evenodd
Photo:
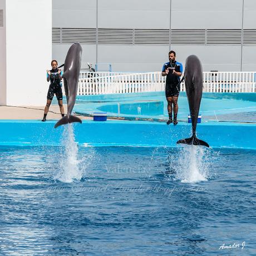
M 204 92 L 256 92 L 256 72 L 204 72 Z M 78 95 L 165 90 L 161 72 L 81 72 Z M 184 81 L 180 90 L 185 91 Z

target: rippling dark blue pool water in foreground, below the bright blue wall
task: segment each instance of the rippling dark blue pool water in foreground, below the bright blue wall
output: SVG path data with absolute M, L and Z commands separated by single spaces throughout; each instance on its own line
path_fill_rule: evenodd
M 70 148 L 0 146 L 1 255 L 255 255 L 255 150 Z

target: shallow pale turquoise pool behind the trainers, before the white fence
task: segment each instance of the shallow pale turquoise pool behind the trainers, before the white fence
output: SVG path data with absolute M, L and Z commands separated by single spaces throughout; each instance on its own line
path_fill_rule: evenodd
M 117 95 L 77 96 L 74 111 L 92 115 L 104 111 L 111 117 L 135 119 L 168 119 L 164 92 L 126 93 Z M 178 119 L 187 121 L 189 114 L 185 92 L 179 96 Z M 256 122 L 256 93 L 203 93 L 200 114 L 202 121 Z

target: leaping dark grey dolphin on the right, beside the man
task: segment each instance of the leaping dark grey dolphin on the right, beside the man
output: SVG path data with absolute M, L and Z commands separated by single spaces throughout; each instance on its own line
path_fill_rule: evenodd
M 192 120 L 193 135 L 188 139 L 177 141 L 177 144 L 183 143 L 188 145 L 202 145 L 209 147 L 208 143 L 203 140 L 199 140 L 196 137 L 196 125 L 198 122 L 198 113 L 203 94 L 203 68 L 197 56 L 190 55 L 188 58 L 186 58 L 184 77 L 186 97 L 188 98 L 190 116 Z

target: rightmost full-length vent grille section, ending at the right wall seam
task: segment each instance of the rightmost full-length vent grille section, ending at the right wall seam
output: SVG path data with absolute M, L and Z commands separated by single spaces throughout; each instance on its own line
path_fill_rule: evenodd
M 241 29 L 207 29 L 207 45 L 240 45 Z

